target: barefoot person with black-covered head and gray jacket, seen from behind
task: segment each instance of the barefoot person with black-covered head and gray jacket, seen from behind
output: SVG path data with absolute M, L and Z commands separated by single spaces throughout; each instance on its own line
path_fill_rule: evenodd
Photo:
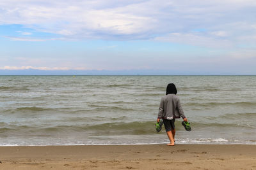
M 185 122 L 188 122 L 184 112 L 180 106 L 180 99 L 177 94 L 177 89 L 173 83 L 166 87 L 166 96 L 163 96 L 159 106 L 157 122 L 163 119 L 164 127 L 170 143 L 168 146 L 173 146 L 175 141 L 175 118 L 182 117 Z

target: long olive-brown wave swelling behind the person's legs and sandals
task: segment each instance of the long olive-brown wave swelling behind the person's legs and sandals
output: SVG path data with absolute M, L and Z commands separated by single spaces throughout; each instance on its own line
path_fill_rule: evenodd
M 126 117 L 118 117 L 112 118 L 110 121 L 121 120 L 124 121 Z M 142 134 L 156 134 L 155 129 L 155 121 L 147 121 L 147 122 L 114 122 L 114 123 L 103 123 L 103 124 L 88 124 L 88 118 L 76 118 L 76 120 L 72 120 L 77 122 L 77 120 L 81 120 L 84 124 L 72 124 L 65 125 L 63 122 L 58 122 L 59 125 L 13 125 L 13 124 L 4 124 L 1 125 L 0 132 L 8 132 L 8 131 L 16 131 L 16 132 L 36 132 L 36 134 L 45 134 L 45 133 L 72 133 L 72 132 L 87 132 L 90 134 L 97 135 L 122 135 L 122 134 L 130 134 L 130 135 L 142 135 Z M 95 120 L 92 120 L 95 122 Z M 109 120 L 108 120 L 109 121 Z M 87 123 L 86 123 L 87 122 Z M 98 122 L 99 123 L 99 122 Z M 192 131 L 201 131 L 200 129 L 214 129 L 216 128 L 254 128 L 252 125 L 245 123 L 234 124 L 234 123 L 218 123 L 218 122 L 190 122 Z M 184 127 L 181 125 L 180 121 L 175 122 L 175 129 L 184 130 Z M 164 132 L 164 126 L 163 130 Z

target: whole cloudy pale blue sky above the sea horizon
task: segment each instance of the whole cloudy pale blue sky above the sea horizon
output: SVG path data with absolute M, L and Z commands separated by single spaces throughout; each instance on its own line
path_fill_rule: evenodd
M 0 0 L 0 74 L 256 74 L 255 0 Z

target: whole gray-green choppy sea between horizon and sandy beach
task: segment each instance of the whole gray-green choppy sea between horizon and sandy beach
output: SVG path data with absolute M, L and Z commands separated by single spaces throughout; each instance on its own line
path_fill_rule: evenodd
M 0 76 L 0 146 L 168 143 L 155 124 L 175 83 L 177 144 L 256 144 L 256 76 Z

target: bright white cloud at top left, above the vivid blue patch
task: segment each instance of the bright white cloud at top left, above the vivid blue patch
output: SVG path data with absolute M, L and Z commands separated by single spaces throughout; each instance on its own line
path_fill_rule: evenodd
M 106 3 L 103 1 L 62 2 L 1 1 L 0 20 L 2 24 L 21 24 L 37 31 L 83 38 L 97 34 L 138 34 L 150 29 L 150 24 L 154 23 L 150 17 L 124 11 L 129 6 L 125 3 L 104 8 L 102 4 Z M 115 1 L 108 2 L 113 4 Z

